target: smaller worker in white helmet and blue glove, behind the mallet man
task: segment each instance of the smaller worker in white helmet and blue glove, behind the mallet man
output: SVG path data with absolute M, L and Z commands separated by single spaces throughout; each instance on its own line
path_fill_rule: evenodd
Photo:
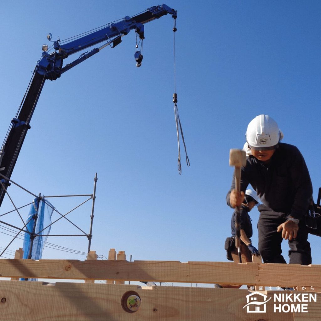
M 253 235 L 250 212 L 258 203 L 258 197 L 254 191 L 247 189 L 245 191 L 244 201 L 240 206 L 239 224 L 240 224 L 240 239 L 241 239 L 241 257 L 242 263 L 252 262 L 252 255 L 259 256 L 259 251 L 252 245 L 250 238 Z M 234 211 L 231 219 L 231 234 L 236 235 L 235 229 L 236 211 Z M 231 256 L 234 262 L 239 262 L 238 249 L 231 249 Z

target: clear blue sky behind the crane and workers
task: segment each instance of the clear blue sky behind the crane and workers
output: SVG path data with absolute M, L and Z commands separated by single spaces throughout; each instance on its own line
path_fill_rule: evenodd
M 91 249 L 99 255 L 108 256 L 116 248 L 133 260 L 226 261 L 223 247 L 233 212 L 225 203 L 233 172 L 229 151 L 243 147 L 252 118 L 270 115 L 284 133 L 283 142 L 300 149 L 317 199 L 321 3 L 165 3 L 178 12 L 176 91 L 190 167 L 181 145 L 178 175 L 173 19 L 167 15 L 145 25 L 140 68 L 135 66 L 131 31 L 116 48 L 105 48 L 60 79 L 46 81 L 12 179 L 34 194 L 91 194 L 98 172 Z M 3 3 L 0 137 L 16 114 L 49 32 L 53 39 L 66 39 L 157 4 Z M 32 201 L 15 187 L 9 193 L 17 206 Z M 62 213 L 80 203 L 50 201 Z M 6 198 L 0 213 L 9 208 Z M 90 212 L 88 204 L 70 219 L 89 231 Z M 258 211 L 250 214 L 257 245 Z M 16 214 L 7 216 L 20 224 Z M 78 234 L 66 223 L 53 227 L 52 233 L 60 232 Z M 11 238 L 0 233 L 0 239 L 3 247 Z M 321 264 L 320 238 L 309 239 L 313 263 Z M 88 247 L 81 238 L 48 241 L 83 252 Z M 21 240 L 9 249 L 18 247 Z M 45 248 L 43 258 L 85 257 Z

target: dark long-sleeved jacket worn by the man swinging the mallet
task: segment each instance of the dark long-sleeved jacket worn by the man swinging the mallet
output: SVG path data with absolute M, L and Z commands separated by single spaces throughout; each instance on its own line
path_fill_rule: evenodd
M 241 168 L 241 191 L 251 184 L 261 202 L 276 212 L 284 212 L 301 219 L 312 197 L 312 183 L 307 165 L 297 147 L 279 143 L 271 162 L 266 166 L 254 156 L 247 157 Z M 230 192 L 226 196 L 230 206 Z

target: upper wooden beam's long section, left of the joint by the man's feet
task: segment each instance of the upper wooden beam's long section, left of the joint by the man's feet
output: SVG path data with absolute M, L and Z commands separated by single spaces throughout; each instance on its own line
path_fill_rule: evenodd
M 0 259 L 0 277 L 254 284 L 257 264 Z

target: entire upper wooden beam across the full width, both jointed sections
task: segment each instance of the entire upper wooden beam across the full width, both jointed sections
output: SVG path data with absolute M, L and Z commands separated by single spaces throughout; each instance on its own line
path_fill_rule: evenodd
M 0 259 L 0 277 L 321 287 L 321 265 Z M 295 284 L 293 284 L 295 282 Z

